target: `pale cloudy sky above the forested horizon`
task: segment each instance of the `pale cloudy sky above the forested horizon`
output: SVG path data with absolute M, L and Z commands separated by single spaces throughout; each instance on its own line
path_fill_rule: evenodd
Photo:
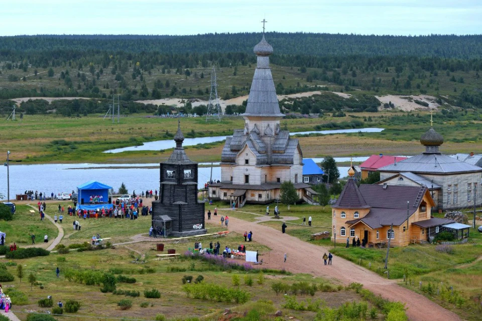
M 4 3 L 4 4 L 2 4 Z M 481 0 L 0 0 L 0 36 L 482 33 Z

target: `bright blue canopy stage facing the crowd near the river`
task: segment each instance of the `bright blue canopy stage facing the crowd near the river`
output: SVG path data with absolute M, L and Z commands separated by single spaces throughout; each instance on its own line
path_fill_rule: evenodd
M 77 186 L 78 202 L 76 209 L 96 210 L 112 208 L 112 204 L 109 204 L 109 189 L 111 188 L 111 186 L 96 181 L 90 181 Z M 92 202 L 90 202 L 90 196 L 100 196 L 101 198 L 93 199 Z

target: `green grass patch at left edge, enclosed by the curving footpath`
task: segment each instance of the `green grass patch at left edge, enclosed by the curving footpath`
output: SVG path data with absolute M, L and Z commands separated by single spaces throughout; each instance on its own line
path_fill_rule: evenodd
M 17 243 L 17 245 L 29 245 L 32 243 L 30 234 L 34 234 L 36 243 L 42 243 L 44 235 L 49 236 L 49 240 L 57 237 L 59 231 L 48 219 L 40 220 L 38 211 L 32 214 L 32 210 L 27 205 L 18 205 L 12 221 L 0 221 L 0 231 L 7 233 L 5 244 Z M 43 243 L 42 243 L 43 244 Z

